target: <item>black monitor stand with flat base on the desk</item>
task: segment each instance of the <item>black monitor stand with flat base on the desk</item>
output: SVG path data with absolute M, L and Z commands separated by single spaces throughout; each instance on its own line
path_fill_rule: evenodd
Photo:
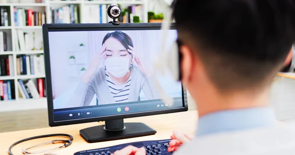
M 89 143 L 147 136 L 156 132 L 143 123 L 124 123 L 123 119 L 105 121 L 105 125 L 80 130 Z

